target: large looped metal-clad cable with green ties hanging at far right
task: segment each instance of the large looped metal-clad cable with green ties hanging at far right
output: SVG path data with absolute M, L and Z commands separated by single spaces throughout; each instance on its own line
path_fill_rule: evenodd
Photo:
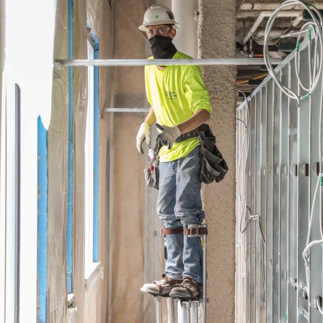
M 275 72 L 273 70 L 273 67 L 270 63 L 270 55 L 268 52 L 268 35 L 274 25 L 274 21 L 277 18 L 278 13 L 287 6 L 295 6 L 299 5 L 300 7 L 303 7 L 304 10 L 306 10 L 313 21 L 305 23 L 299 32 L 291 32 L 286 35 L 282 35 L 281 38 L 286 38 L 293 35 L 298 35 L 297 42 L 296 42 L 296 49 L 295 49 L 295 69 L 296 69 L 296 75 L 299 82 L 299 85 L 302 87 L 303 90 L 307 91 L 305 95 L 299 96 L 296 93 L 294 93 L 291 89 L 284 86 L 276 77 Z M 268 19 L 265 33 L 264 33 L 264 45 L 263 45 L 263 57 L 265 61 L 266 68 L 268 72 L 271 74 L 277 85 L 280 87 L 283 93 L 288 95 L 290 98 L 297 100 L 298 107 L 301 105 L 301 100 L 306 99 L 316 88 L 319 81 L 321 81 L 321 92 L 320 92 L 320 111 L 319 111 L 319 142 L 318 142 L 318 155 L 319 155 L 319 176 L 317 179 L 315 192 L 313 196 L 313 201 L 311 204 L 311 211 L 310 211 L 310 220 L 309 220 L 309 227 L 308 227 L 308 234 L 307 234 L 307 242 L 306 247 L 303 251 L 303 258 L 305 262 L 305 270 L 306 270 L 306 287 L 303 289 L 307 292 L 308 295 L 308 305 L 310 306 L 310 288 L 309 288 L 309 282 L 310 282 L 310 273 L 309 273 L 309 262 L 310 262 L 310 248 L 316 244 L 322 244 L 323 243 L 323 226 L 322 226 L 322 196 L 323 196 L 323 174 L 322 174 L 322 112 L 323 112 L 323 80 L 322 80 L 322 69 L 323 69 L 323 18 L 320 14 L 320 12 L 313 7 L 311 4 L 304 4 L 301 1 L 298 0 L 288 0 L 285 1 L 279 8 L 277 8 L 272 16 Z M 309 75 L 310 75 L 310 86 L 307 88 L 304 86 L 300 79 L 299 75 L 299 45 L 300 45 L 300 38 L 303 33 L 308 33 L 308 64 L 309 64 Z M 314 51 L 312 53 L 311 48 L 311 41 L 312 41 L 312 34 L 314 36 Z M 313 64 L 312 64 L 313 60 Z M 315 203 L 317 194 L 319 191 L 319 223 L 320 223 L 320 235 L 321 239 L 314 240 L 310 242 L 310 236 L 311 236 L 311 229 L 312 229 L 312 223 L 313 223 L 313 214 L 315 209 Z M 315 304 L 318 306 L 318 301 L 315 299 Z M 319 308 L 320 313 L 323 313 L 321 308 Z M 287 315 L 288 315 L 288 304 L 286 309 Z

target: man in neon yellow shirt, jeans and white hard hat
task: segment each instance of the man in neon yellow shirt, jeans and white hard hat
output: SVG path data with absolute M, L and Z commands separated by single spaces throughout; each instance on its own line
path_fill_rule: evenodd
M 192 59 L 178 51 L 172 40 L 180 25 L 172 11 L 152 5 L 139 27 L 151 46 L 151 59 Z M 199 181 L 200 142 L 195 129 L 207 122 L 212 111 L 209 94 L 199 66 L 146 66 L 145 85 L 151 107 L 137 135 L 137 148 L 150 144 L 154 123 L 164 144 L 159 151 L 159 194 L 157 213 L 164 223 L 168 259 L 159 281 L 144 284 L 152 295 L 194 298 L 202 289 L 202 246 L 198 238 L 188 238 L 188 225 L 201 224 Z M 179 142 L 178 142 L 179 141 Z M 183 234 L 184 231 L 184 234 Z

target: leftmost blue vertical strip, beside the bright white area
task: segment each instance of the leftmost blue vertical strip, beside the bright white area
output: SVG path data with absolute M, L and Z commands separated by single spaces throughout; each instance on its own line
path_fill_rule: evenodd
M 37 119 L 37 154 L 37 275 L 39 282 L 37 321 L 45 323 L 47 290 L 47 131 L 40 116 Z

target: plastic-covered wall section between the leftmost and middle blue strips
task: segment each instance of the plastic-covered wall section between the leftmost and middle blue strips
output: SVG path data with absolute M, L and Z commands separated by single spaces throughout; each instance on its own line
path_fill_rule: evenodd
M 67 2 L 59 0 L 54 58 L 68 57 Z M 47 322 L 64 322 L 67 310 L 66 214 L 68 70 L 55 68 L 48 128 Z

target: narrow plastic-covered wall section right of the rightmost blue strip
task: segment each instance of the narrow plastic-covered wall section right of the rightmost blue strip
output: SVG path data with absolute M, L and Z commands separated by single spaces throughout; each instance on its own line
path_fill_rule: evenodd
M 111 15 L 110 5 L 105 0 L 87 2 L 87 19 L 99 40 L 99 58 L 111 59 Z M 110 101 L 111 69 L 99 68 L 99 180 L 98 209 L 99 235 L 98 260 L 101 264 L 103 279 L 94 276 L 91 284 L 85 287 L 84 322 L 105 322 L 108 289 L 108 249 L 109 249 L 109 158 L 107 158 L 108 123 L 109 118 L 103 113 L 103 108 Z M 89 285 L 89 286 L 88 286 Z M 88 302 L 91 302 L 87 304 Z

